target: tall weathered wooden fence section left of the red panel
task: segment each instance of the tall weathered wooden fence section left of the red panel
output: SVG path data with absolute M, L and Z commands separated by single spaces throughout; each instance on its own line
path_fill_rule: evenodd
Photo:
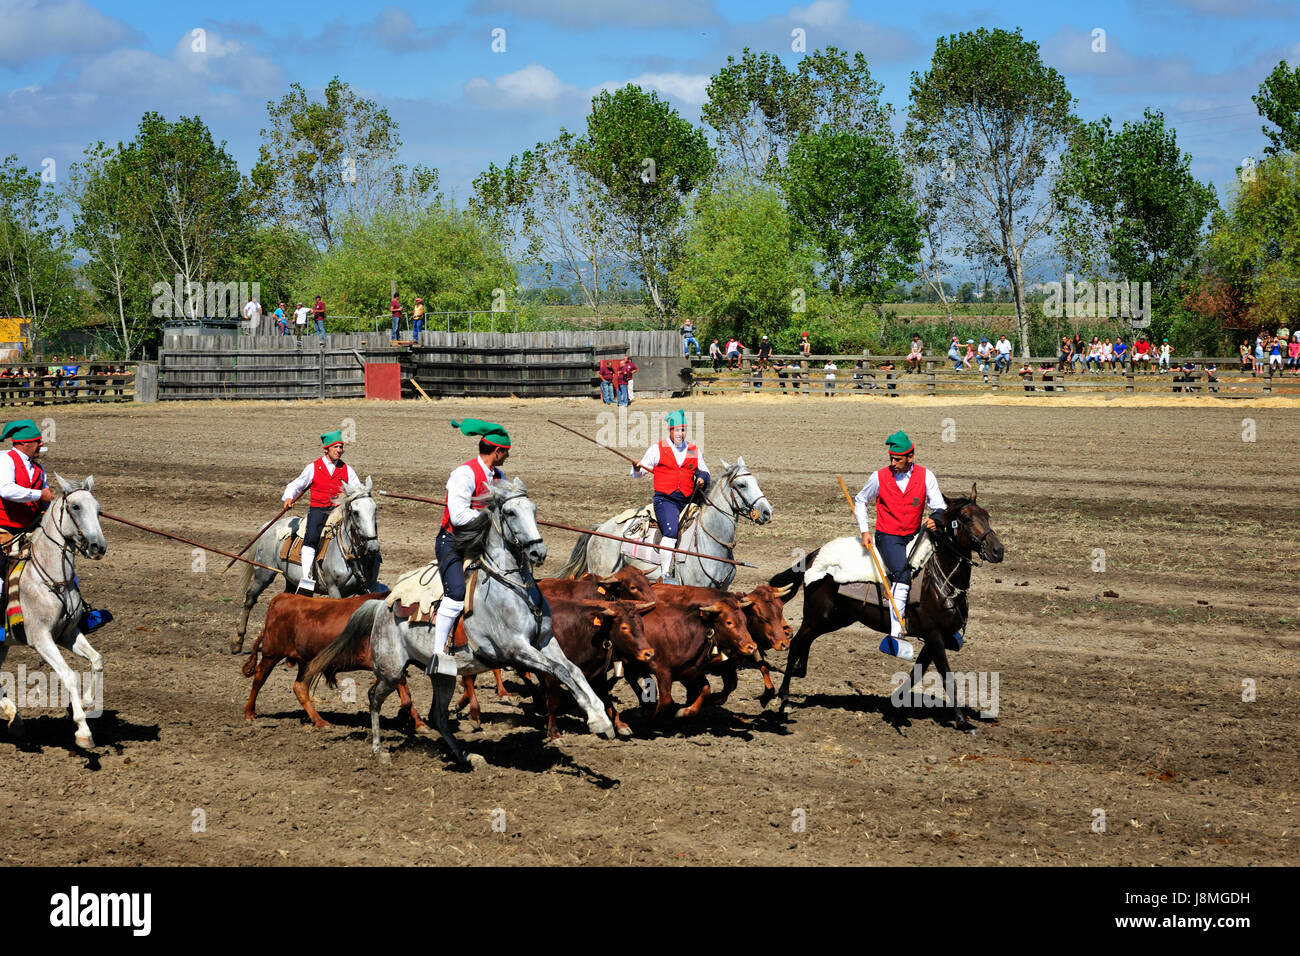
M 166 333 L 159 350 L 159 397 L 363 398 L 364 362 L 396 362 L 384 333 L 187 336 Z

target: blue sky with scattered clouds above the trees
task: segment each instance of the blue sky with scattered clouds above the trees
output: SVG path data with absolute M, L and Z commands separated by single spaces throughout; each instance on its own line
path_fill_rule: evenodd
M 941 35 L 1020 27 L 1061 70 L 1084 118 L 1165 112 L 1193 172 L 1221 200 L 1262 152 L 1251 95 L 1279 60 L 1300 62 L 1295 0 L 447 0 L 426 5 L 0 0 L 0 155 L 66 169 L 86 144 L 129 139 L 144 111 L 200 114 L 240 169 L 257 155 L 266 101 L 334 74 L 398 120 L 403 161 L 437 166 L 464 200 L 488 163 L 581 130 L 593 91 L 637 82 L 698 122 L 710 74 L 748 46 L 793 66 L 807 49 L 861 49 L 885 99 Z M 504 52 L 493 31 L 504 30 Z M 1093 31 L 1105 31 L 1095 52 Z M 194 52 L 194 30 L 204 51 Z

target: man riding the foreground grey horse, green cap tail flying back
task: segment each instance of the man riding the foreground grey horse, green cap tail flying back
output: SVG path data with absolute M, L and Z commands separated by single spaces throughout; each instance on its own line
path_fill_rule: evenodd
M 476 505 L 474 498 L 488 493 L 490 481 L 506 477 L 500 466 L 510 458 L 510 434 L 500 425 L 464 419 L 452 421 L 451 427 L 459 428 L 464 436 L 478 437 L 478 455 L 454 468 L 447 479 L 447 507 L 442 512 L 442 528 L 433 544 L 438 574 L 442 575 L 442 600 L 434 619 L 433 656 L 428 667 L 430 676 L 436 672 L 456 672 L 455 661 L 447 656 L 447 640 L 456 627 L 456 618 L 465 607 L 465 570 L 454 535 L 478 516 L 482 503 Z

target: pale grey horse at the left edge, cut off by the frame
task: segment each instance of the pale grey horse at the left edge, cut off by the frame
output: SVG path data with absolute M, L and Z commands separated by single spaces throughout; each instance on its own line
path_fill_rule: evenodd
M 57 498 L 49 502 L 40 524 L 31 533 L 31 557 L 18 576 L 18 601 L 22 605 L 22 628 L 26 643 L 35 648 L 46 663 L 58 675 L 68 691 L 77 723 L 77 745 L 90 749 L 95 745 L 90 726 L 86 723 L 86 708 L 95 705 L 104 684 L 104 657 L 86 640 L 81 622 L 84 604 L 77 587 L 74 555 L 84 554 L 99 561 L 108 551 L 104 532 L 99 527 L 99 502 L 91 494 L 95 477 L 84 481 L 65 481 L 55 475 L 62 489 Z M 0 644 L 0 665 L 13 635 Z M 58 648 L 68 648 L 74 654 L 90 661 L 91 679 L 77 691 L 77 672 L 68 666 Z M 22 734 L 22 718 L 18 708 L 0 685 L 0 717 L 13 734 Z M 14 726 L 17 724 L 17 726 Z

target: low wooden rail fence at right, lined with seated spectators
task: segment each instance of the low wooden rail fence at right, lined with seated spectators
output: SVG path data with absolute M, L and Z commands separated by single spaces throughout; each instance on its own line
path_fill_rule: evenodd
M 833 371 L 835 380 L 831 385 L 827 380 L 826 363 L 831 360 L 837 368 Z M 863 368 L 857 368 L 858 362 Z M 1231 358 L 1178 358 L 1173 360 L 1170 371 L 1143 371 L 1135 369 L 1131 364 L 1112 371 L 1109 368 L 1100 372 L 1074 371 L 1061 372 L 1056 365 L 1056 356 L 1028 359 L 1032 372 L 1022 376 L 1020 367 L 1024 359 L 1013 362 L 1011 368 L 1005 372 L 989 371 L 957 372 L 953 371 L 950 360 L 927 356 L 922 360 L 922 371 L 905 371 L 904 355 L 774 355 L 772 365 L 766 371 L 758 368 L 757 359 L 745 360 L 745 365 L 738 371 L 729 369 L 725 364 L 722 371 L 712 367 L 708 359 L 693 362 L 692 392 L 694 394 L 734 394 L 742 392 L 789 392 L 800 394 L 816 394 L 833 397 L 844 393 L 857 392 L 884 392 L 887 394 L 924 394 L 937 395 L 940 393 L 954 392 L 985 392 L 997 394 L 1053 394 L 1067 393 L 1093 393 L 1093 394 L 1173 394 L 1173 393 L 1206 393 L 1219 398 L 1260 398 L 1265 395 L 1290 395 L 1300 398 L 1300 377 L 1271 372 L 1252 375 L 1240 371 L 1239 356 Z M 1186 373 L 1190 381 L 1175 380 L 1184 376 L 1182 364 L 1191 362 L 1195 371 Z M 786 363 L 786 368 L 780 371 L 777 363 Z M 880 368 L 884 363 L 893 363 L 893 369 Z M 1052 365 L 1052 371 L 1043 371 L 1043 365 Z M 1154 362 L 1152 363 L 1154 367 Z M 1210 381 L 1205 365 L 1218 365 L 1214 381 Z M 978 369 L 978 365 L 976 365 Z

